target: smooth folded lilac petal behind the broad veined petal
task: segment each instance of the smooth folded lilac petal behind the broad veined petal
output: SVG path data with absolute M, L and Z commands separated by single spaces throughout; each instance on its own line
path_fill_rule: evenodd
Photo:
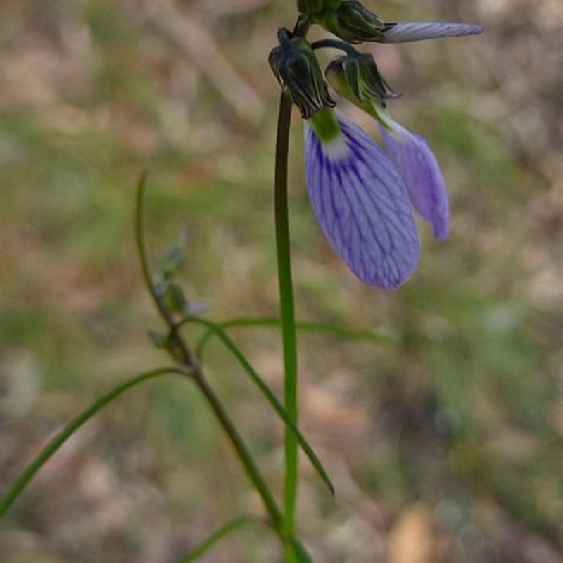
M 450 204 L 440 165 L 420 135 L 393 122 L 394 132 L 380 126 L 389 157 L 403 177 L 412 205 L 428 221 L 436 239 L 450 232 Z

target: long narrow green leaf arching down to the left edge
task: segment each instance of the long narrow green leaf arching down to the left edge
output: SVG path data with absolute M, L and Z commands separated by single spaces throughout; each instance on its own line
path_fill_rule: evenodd
M 103 397 L 92 403 L 86 410 L 80 413 L 77 417 L 72 419 L 35 457 L 35 459 L 23 470 L 15 483 L 8 490 L 4 498 L 0 501 L 0 518 L 4 516 L 6 510 L 13 504 L 16 498 L 20 495 L 23 489 L 30 483 L 35 474 L 41 469 L 44 464 L 49 460 L 49 458 L 56 453 L 58 448 L 72 436 L 79 428 L 87 422 L 91 417 L 96 415 L 103 407 L 108 405 L 112 400 L 118 398 L 122 393 L 127 391 L 134 386 L 141 384 L 143 381 L 152 379 L 153 377 L 159 377 L 165 374 L 179 374 L 186 375 L 186 372 L 178 369 L 177 367 L 161 367 L 158 369 L 152 369 L 150 372 L 145 372 L 143 374 L 137 375 L 132 379 L 125 381 L 121 385 L 117 386 L 113 391 L 110 391 Z

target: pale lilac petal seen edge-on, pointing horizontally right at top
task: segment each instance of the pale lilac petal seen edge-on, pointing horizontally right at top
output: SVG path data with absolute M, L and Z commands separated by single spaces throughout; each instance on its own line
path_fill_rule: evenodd
M 480 25 L 449 22 L 399 22 L 387 23 L 383 30 L 383 43 L 407 43 L 438 37 L 460 37 L 483 33 Z

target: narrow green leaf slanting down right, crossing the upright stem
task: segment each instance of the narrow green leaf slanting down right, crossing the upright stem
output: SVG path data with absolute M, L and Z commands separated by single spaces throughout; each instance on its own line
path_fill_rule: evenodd
M 271 391 L 270 387 L 267 386 L 266 382 L 262 379 L 262 377 L 260 377 L 260 375 L 258 374 L 258 372 L 256 372 L 256 370 L 251 365 L 251 363 L 246 359 L 246 356 L 243 354 L 241 349 L 238 346 L 236 346 L 234 341 L 232 341 L 232 339 L 222 329 L 222 327 L 220 327 L 219 324 L 217 324 L 213 321 L 207 320 L 207 319 L 202 319 L 200 317 L 187 317 L 182 322 L 182 324 L 186 324 L 188 322 L 191 322 L 191 323 L 194 323 L 194 324 L 202 324 L 203 326 L 208 327 L 208 329 L 210 329 L 210 331 L 213 331 L 213 333 L 217 336 L 217 338 L 220 339 L 220 341 L 229 350 L 229 352 L 231 352 L 232 355 L 234 355 L 234 358 L 236 358 L 236 360 L 239 361 L 240 365 L 243 367 L 244 371 L 251 378 L 253 383 L 256 386 L 258 386 L 260 391 L 262 391 L 262 394 L 265 396 L 268 403 L 270 403 L 270 405 L 272 405 L 272 407 L 277 412 L 279 417 L 283 420 L 284 424 L 286 424 L 286 426 L 293 432 L 293 434 L 295 435 L 299 445 L 301 445 L 303 452 L 309 458 L 312 466 L 315 467 L 315 469 L 317 470 L 317 473 L 319 474 L 322 481 L 324 481 L 324 483 L 327 485 L 331 494 L 334 495 L 334 486 L 332 484 L 332 481 L 330 480 L 330 478 L 327 474 L 327 471 L 322 466 L 322 463 L 320 462 L 319 458 L 317 457 L 317 454 L 315 454 L 315 451 L 312 449 L 312 447 L 310 446 L 308 441 L 305 439 L 303 434 L 301 434 L 301 431 L 299 431 L 297 426 L 295 424 L 293 424 L 293 421 L 291 421 L 291 419 L 289 418 L 289 415 L 287 414 L 286 410 L 284 409 L 284 406 L 281 405 L 281 403 L 279 402 L 279 399 L 274 395 L 274 393 Z

